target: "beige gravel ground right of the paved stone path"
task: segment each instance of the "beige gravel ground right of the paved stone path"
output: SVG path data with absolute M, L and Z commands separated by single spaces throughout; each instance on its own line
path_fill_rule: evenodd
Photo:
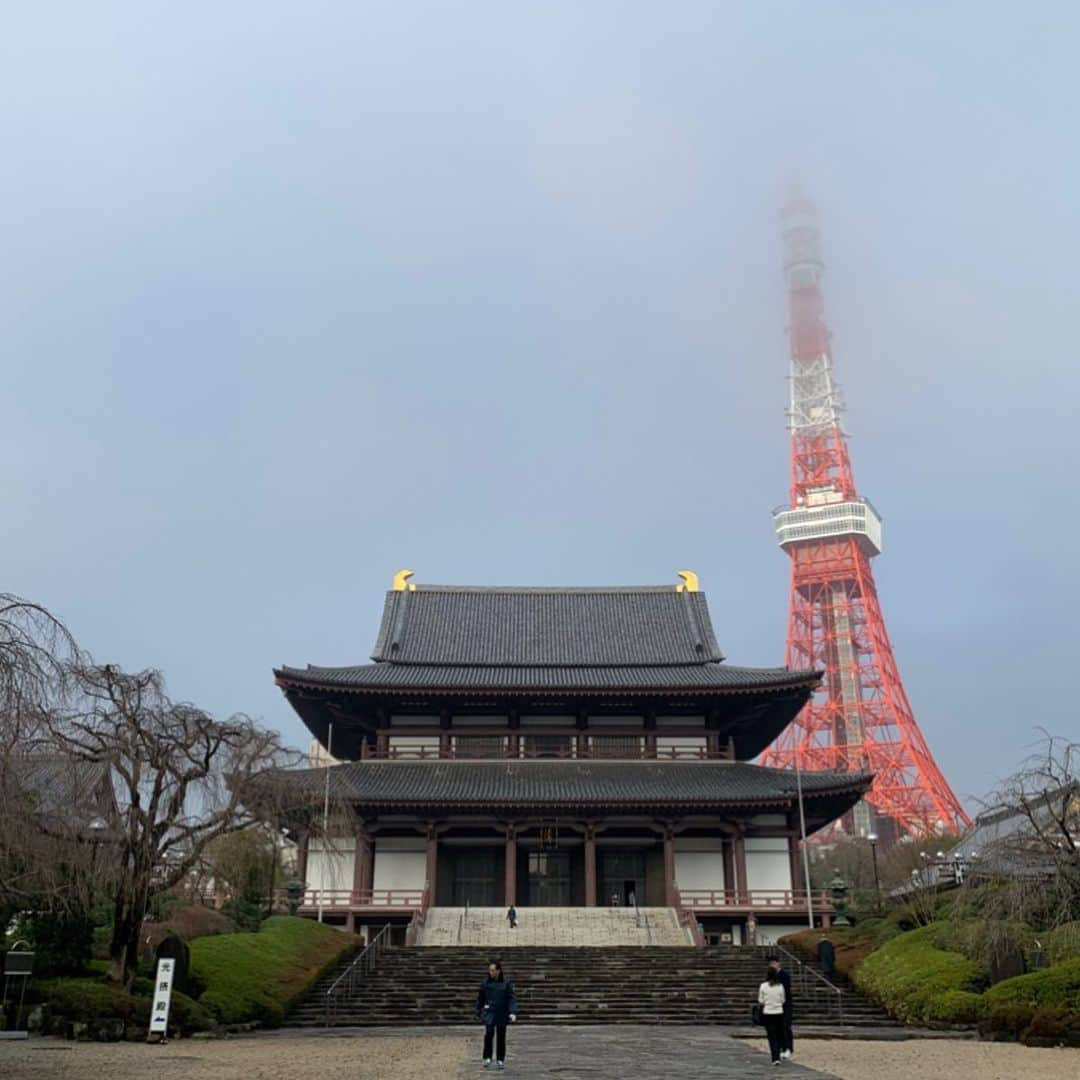
M 769 1051 L 765 1040 L 747 1040 Z M 1080 1050 L 1035 1050 L 1014 1042 L 912 1039 L 858 1042 L 804 1039 L 796 1032 L 800 1065 L 832 1072 L 841 1080 L 1077 1080 Z M 777 1070 L 780 1072 L 780 1069 Z M 782 1074 L 781 1074 L 782 1075 Z

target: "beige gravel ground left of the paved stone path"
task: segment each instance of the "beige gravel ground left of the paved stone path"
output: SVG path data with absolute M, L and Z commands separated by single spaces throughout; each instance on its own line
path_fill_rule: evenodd
M 475 1040 L 473 1040 L 475 1041 Z M 443 1080 L 469 1054 L 462 1036 L 0 1042 L 3 1080 Z

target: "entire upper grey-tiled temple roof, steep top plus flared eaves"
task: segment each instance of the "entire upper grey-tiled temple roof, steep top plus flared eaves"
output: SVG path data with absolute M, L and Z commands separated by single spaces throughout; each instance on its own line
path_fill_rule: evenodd
M 723 664 L 697 588 L 416 585 L 387 593 L 370 664 L 282 666 L 285 687 L 346 691 L 762 692 L 819 674 Z

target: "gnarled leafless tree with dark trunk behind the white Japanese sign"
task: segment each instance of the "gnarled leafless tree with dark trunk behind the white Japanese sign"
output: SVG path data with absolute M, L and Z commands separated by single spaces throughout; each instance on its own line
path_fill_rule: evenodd
M 259 778 L 289 754 L 245 716 L 218 720 L 171 701 L 158 672 L 82 665 L 72 676 L 77 692 L 45 717 L 45 737 L 65 758 L 107 762 L 116 778 L 109 976 L 126 982 L 150 896 L 184 881 L 208 843 L 273 814 Z

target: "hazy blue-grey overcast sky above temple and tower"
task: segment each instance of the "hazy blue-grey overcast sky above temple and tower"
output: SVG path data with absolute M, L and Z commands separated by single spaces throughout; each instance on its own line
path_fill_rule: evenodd
M 1078 9 L 22 3 L 0 26 L 0 590 L 307 735 L 417 581 L 691 567 L 783 661 L 778 210 L 958 794 L 1077 734 Z

